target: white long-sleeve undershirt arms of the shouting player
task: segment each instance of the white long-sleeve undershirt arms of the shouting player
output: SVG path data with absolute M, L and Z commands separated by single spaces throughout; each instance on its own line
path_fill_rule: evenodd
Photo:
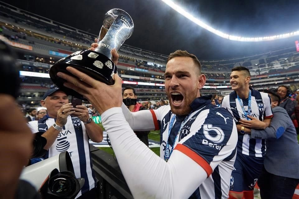
M 162 160 L 136 137 L 126 121 L 126 118 L 132 116 L 131 112 L 126 108 L 128 112 L 125 110 L 123 113 L 122 108 L 106 110 L 101 119 L 133 197 L 163 199 L 190 197 L 207 178 L 206 171 L 178 150 L 173 150 L 168 162 Z M 142 111 L 134 114 L 140 112 Z M 147 117 L 147 114 L 152 118 L 150 111 L 145 116 L 142 114 L 142 117 Z M 136 130 L 154 129 L 154 122 L 139 124 L 140 119 L 129 119 Z

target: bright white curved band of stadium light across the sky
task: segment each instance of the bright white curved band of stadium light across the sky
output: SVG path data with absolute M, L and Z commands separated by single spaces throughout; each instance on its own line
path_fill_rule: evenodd
M 220 37 L 223 37 L 225 39 L 230 39 L 230 40 L 235 40 L 235 41 L 246 41 L 246 42 L 258 42 L 258 41 L 270 41 L 270 40 L 275 40 L 275 39 L 284 39 L 288 37 L 293 37 L 296 35 L 299 35 L 299 30 L 291 32 L 291 33 L 286 33 L 286 34 L 281 34 L 281 35 L 272 35 L 272 36 L 264 36 L 264 37 L 243 37 L 243 36 L 235 36 L 235 35 L 229 35 L 226 33 L 221 32 L 220 30 L 216 30 L 212 28 L 211 26 L 205 24 L 198 18 L 194 17 L 192 14 L 184 10 L 182 7 L 179 5 L 175 4 L 171 0 L 161 0 L 164 3 L 166 3 L 169 7 L 173 8 L 173 10 L 177 11 L 181 15 L 185 16 L 187 19 L 190 21 L 196 23 L 197 25 L 201 26 L 202 28 L 210 31 L 211 33 L 214 33 L 215 35 L 218 35 Z

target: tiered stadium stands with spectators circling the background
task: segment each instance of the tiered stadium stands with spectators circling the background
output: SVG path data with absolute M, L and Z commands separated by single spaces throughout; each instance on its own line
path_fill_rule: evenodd
M 43 88 L 55 86 L 47 76 L 51 64 L 74 51 L 88 49 L 93 38 L 97 38 L 97 35 L 19 10 L 7 4 L 0 5 L 0 26 L 0 34 L 7 37 L 12 42 L 12 46 L 17 49 L 19 62 L 24 71 L 21 75 L 24 84 L 20 94 L 22 101 L 25 100 L 25 96 L 36 97 L 27 100 L 27 103 L 31 105 L 39 103 L 38 96 L 45 91 Z M 126 44 L 119 49 L 119 54 L 118 72 L 124 80 L 123 86 L 135 87 L 138 99 L 141 101 L 167 99 L 165 95 L 162 95 L 164 94 L 164 71 L 167 55 Z M 207 77 L 206 86 L 202 90 L 204 95 L 230 93 L 230 70 L 236 66 L 249 68 L 252 75 L 250 86 L 255 89 L 299 83 L 297 75 L 299 53 L 295 51 L 294 47 L 246 57 L 200 60 L 200 62 L 202 63 L 202 72 Z M 31 74 L 30 72 L 35 73 Z M 40 88 L 30 90 L 27 84 L 40 86 Z M 156 91 L 151 93 L 150 90 Z

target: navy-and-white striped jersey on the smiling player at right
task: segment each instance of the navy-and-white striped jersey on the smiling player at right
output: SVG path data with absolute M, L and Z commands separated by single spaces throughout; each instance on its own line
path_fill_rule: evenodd
M 267 93 L 262 93 L 250 88 L 251 90 L 251 116 L 259 118 L 260 121 L 264 119 L 272 118 L 273 113 L 271 109 L 271 99 Z M 240 98 L 241 99 L 241 98 Z M 241 99 L 244 105 L 245 111 L 248 111 L 248 99 Z M 222 99 L 221 107 L 227 109 L 230 114 L 233 115 L 235 122 L 246 119 L 239 100 L 237 98 L 236 91 L 226 95 Z M 238 136 L 237 151 L 249 156 L 264 157 L 266 153 L 266 143 L 264 139 L 250 139 L 247 134 Z

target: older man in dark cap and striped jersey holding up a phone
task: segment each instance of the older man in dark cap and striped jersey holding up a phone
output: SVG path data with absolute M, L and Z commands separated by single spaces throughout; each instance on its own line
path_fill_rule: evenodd
M 85 180 L 76 198 L 95 198 L 95 178 L 88 140 L 101 142 L 102 128 L 89 117 L 87 107 L 73 107 L 68 96 L 59 88 L 48 90 L 40 104 L 47 108 L 48 114 L 38 121 L 29 122 L 28 126 L 32 133 L 44 132 L 42 136 L 47 139 L 44 149 L 48 150 L 45 158 L 67 150 L 76 177 Z

